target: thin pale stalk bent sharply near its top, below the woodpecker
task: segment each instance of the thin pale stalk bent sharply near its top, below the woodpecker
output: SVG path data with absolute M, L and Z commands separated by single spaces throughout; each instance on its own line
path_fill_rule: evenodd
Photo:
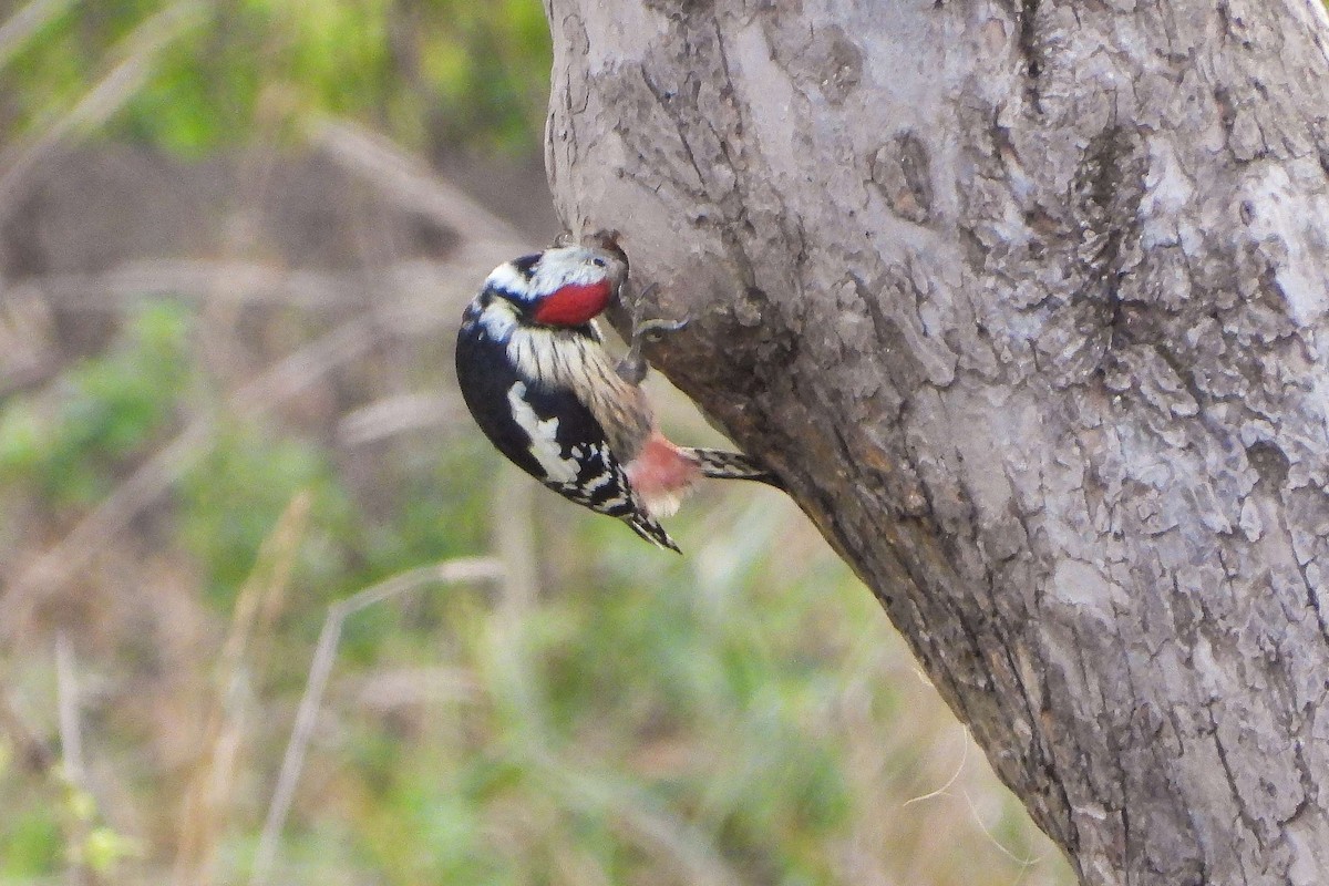
M 425 584 L 492 582 L 501 578 L 502 574 L 502 566 L 492 558 L 447 561 L 399 573 L 328 607 L 318 646 L 314 650 L 314 662 L 310 665 L 310 676 L 304 684 L 304 695 L 300 697 L 300 707 L 295 713 L 291 739 L 286 745 L 286 754 L 282 758 L 276 788 L 272 790 L 272 801 L 268 805 L 263 832 L 259 836 L 250 886 L 263 886 L 271 877 L 272 865 L 276 861 L 278 841 L 282 837 L 282 830 L 286 828 L 286 817 L 291 810 L 291 801 L 295 798 L 295 785 L 300 778 L 300 769 L 304 765 L 304 752 L 314 735 L 315 720 L 319 715 L 319 707 L 323 704 L 323 692 L 327 688 L 328 676 L 332 673 L 338 646 L 342 642 L 342 626 L 346 623 L 346 619 L 360 610 Z

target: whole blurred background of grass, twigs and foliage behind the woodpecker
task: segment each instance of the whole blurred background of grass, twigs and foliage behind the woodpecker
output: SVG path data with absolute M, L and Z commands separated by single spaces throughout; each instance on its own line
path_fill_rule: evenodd
M 0 883 L 1071 882 L 789 501 L 472 429 L 534 0 L 0 9 Z

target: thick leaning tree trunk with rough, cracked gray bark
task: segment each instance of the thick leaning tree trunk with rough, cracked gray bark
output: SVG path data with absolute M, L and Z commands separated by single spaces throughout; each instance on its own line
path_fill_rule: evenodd
M 548 166 L 1086 883 L 1329 878 L 1317 0 L 546 0 Z

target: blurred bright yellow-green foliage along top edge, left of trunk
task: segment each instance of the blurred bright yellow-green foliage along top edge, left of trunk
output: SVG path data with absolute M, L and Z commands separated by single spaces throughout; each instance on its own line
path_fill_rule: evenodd
M 16 135 L 49 126 L 134 58 L 152 74 L 101 132 L 189 155 L 323 113 L 431 155 L 525 151 L 545 116 L 549 31 L 533 0 L 45 5 L 40 31 L 0 61 L 0 122 Z

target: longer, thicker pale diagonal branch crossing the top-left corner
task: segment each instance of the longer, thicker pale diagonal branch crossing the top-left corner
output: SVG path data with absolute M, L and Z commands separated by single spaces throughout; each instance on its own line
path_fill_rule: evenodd
M 29 169 L 69 135 L 105 124 L 144 86 L 155 56 L 205 15 L 202 3 L 181 0 L 145 19 L 117 48 L 124 58 L 68 113 L 0 153 L 0 211 Z

